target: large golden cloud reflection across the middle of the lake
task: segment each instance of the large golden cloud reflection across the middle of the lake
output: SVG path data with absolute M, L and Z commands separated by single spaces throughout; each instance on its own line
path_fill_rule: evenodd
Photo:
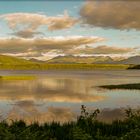
M 35 81 L 2 81 L 0 100 L 42 100 L 49 102 L 93 102 L 105 97 L 90 93 L 91 87 L 72 79 L 39 78 Z

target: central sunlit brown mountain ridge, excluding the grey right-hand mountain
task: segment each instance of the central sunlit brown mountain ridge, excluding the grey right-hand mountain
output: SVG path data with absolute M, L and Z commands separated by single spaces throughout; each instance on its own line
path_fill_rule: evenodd
M 109 56 L 57 56 L 48 60 L 47 63 L 113 63 L 114 60 Z

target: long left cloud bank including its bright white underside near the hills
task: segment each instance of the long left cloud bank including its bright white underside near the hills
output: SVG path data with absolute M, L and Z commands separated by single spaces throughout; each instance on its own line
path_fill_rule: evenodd
M 64 50 L 103 41 L 100 37 L 57 36 L 45 38 L 0 38 L 0 53 L 38 59 L 48 59 L 63 54 Z

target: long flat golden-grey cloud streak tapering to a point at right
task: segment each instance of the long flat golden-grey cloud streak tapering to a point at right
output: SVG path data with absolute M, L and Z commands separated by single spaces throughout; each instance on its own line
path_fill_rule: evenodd
M 58 36 L 45 38 L 0 38 L 1 53 L 48 52 L 53 49 L 72 49 L 80 45 L 103 41 L 100 37 Z

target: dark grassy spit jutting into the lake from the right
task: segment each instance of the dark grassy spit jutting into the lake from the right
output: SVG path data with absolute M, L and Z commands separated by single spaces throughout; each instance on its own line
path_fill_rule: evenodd
M 106 89 L 137 89 L 140 90 L 140 83 L 135 84 L 120 84 L 120 85 L 104 85 L 100 86 Z

